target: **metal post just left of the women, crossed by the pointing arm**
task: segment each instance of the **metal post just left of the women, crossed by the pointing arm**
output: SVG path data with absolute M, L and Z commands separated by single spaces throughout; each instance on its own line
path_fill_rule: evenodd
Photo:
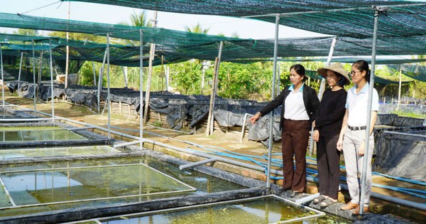
M 277 56 L 278 56 L 278 28 L 280 26 L 280 14 L 275 15 L 275 41 L 273 44 L 273 71 L 272 71 L 272 100 L 275 98 L 275 80 L 277 75 Z M 266 174 L 266 187 L 271 187 L 271 159 L 273 144 L 273 110 L 269 113 L 269 139 L 268 139 L 268 172 Z

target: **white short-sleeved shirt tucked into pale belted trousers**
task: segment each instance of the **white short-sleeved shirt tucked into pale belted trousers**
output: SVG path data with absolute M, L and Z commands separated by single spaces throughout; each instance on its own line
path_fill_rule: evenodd
M 346 109 L 349 110 L 348 125 L 352 127 L 367 125 L 367 109 L 368 109 L 368 88 L 367 83 L 360 92 L 356 93 L 356 85 L 351 87 L 346 97 Z M 371 111 L 378 111 L 378 94 L 373 89 L 373 102 Z

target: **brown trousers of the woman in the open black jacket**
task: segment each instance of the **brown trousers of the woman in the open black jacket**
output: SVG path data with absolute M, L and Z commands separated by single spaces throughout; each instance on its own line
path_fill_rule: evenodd
M 306 150 L 310 132 L 309 121 L 284 119 L 282 132 L 283 188 L 303 192 L 306 188 Z M 296 167 L 293 167 L 293 155 Z

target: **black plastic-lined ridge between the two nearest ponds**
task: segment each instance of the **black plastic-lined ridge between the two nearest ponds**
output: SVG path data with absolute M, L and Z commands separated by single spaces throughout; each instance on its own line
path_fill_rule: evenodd
M 128 213 L 139 213 L 149 210 L 160 210 L 175 208 L 179 206 L 192 206 L 203 203 L 214 203 L 239 198 L 251 198 L 267 195 L 266 188 L 249 188 L 236 191 L 224 191 L 219 193 L 208 193 L 206 195 L 194 195 L 176 198 L 165 198 L 160 200 L 145 201 L 141 203 L 129 203 L 96 207 L 83 207 L 66 210 L 56 210 L 31 215 L 18 215 L 0 218 L 1 223 L 65 223 L 74 220 L 85 220 L 105 216 L 123 215 Z

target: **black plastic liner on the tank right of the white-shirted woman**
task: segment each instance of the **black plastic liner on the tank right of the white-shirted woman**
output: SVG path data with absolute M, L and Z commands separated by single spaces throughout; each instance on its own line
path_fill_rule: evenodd
M 373 171 L 426 181 L 426 127 L 390 130 L 376 136 Z

